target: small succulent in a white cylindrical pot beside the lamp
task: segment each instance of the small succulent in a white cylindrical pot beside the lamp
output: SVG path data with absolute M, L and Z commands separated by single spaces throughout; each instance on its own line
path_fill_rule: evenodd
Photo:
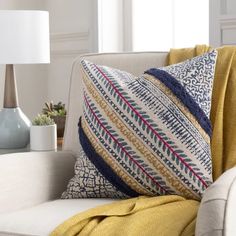
M 35 151 L 50 151 L 57 148 L 57 127 L 49 116 L 39 114 L 30 127 L 30 148 Z

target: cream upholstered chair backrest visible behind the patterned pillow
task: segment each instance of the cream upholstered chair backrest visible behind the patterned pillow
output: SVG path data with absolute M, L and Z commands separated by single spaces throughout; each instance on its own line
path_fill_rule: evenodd
M 134 75 L 140 75 L 150 67 L 163 66 L 166 61 L 166 56 L 166 52 L 142 52 L 90 54 L 78 57 L 72 66 L 64 149 L 78 153 L 77 123 L 82 114 L 82 80 L 80 74 L 81 58 L 100 65 L 125 70 Z

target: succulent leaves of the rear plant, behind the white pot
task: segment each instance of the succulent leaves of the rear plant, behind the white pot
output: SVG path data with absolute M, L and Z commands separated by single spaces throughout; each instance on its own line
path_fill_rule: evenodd
M 65 116 L 66 115 L 65 104 L 63 104 L 62 102 L 58 102 L 57 104 L 53 104 L 53 102 L 45 102 L 45 108 L 43 108 L 43 114 L 48 115 L 50 117 Z

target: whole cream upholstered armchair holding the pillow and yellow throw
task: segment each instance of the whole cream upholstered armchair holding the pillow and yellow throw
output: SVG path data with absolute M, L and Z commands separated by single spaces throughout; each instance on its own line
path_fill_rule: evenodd
M 167 53 L 91 54 L 92 62 L 135 75 L 163 66 Z M 82 112 L 81 57 L 73 63 L 63 152 L 28 152 L 0 156 L 0 235 L 48 235 L 70 216 L 114 201 L 60 200 L 73 176 L 78 153 L 77 122 Z M 198 213 L 197 236 L 235 236 L 236 168 L 223 174 L 205 193 Z

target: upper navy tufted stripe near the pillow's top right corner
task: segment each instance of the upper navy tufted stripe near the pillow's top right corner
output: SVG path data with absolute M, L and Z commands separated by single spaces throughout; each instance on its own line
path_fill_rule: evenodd
M 166 71 L 156 68 L 151 68 L 144 73 L 154 76 L 156 79 L 165 84 L 175 94 L 175 96 L 178 97 L 181 102 L 189 109 L 192 115 L 195 116 L 198 123 L 205 130 L 205 132 L 209 136 L 211 136 L 212 128 L 210 120 L 178 80 L 176 80 Z

